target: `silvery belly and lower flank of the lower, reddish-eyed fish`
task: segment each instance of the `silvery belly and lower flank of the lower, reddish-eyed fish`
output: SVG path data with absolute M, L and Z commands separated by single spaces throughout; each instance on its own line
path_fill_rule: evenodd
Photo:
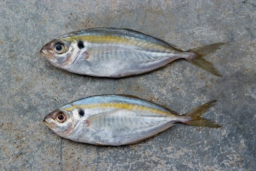
M 88 118 L 89 126 L 81 125 L 75 141 L 110 146 L 133 144 L 174 123 L 175 119 L 167 115 L 119 108 Z

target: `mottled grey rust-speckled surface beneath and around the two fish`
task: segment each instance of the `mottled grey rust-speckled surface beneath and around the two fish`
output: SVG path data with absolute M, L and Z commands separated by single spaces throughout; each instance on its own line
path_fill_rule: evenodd
M 256 170 L 255 0 L 0 0 L 0 170 Z M 186 61 L 122 79 L 69 73 L 40 55 L 48 41 L 89 27 L 126 27 L 186 50 L 227 42 L 207 59 L 223 77 Z M 139 144 L 100 147 L 50 131 L 42 118 L 95 94 L 140 96 L 223 128 L 176 125 Z

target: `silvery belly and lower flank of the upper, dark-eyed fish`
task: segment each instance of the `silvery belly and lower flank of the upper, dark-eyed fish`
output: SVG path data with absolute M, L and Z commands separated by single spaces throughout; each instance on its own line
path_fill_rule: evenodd
M 163 50 L 152 43 L 140 44 L 143 46 L 88 43 L 87 59 L 85 53 L 81 53 L 71 71 L 92 76 L 123 77 L 157 69 L 179 58 L 177 52 Z

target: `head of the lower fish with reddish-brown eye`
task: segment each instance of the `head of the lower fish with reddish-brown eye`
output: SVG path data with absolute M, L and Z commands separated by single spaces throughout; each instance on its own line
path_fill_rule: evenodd
M 56 109 L 44 118 L 44 124 L 57 135 L 68 137 L 79 123 L 78 111 Z

